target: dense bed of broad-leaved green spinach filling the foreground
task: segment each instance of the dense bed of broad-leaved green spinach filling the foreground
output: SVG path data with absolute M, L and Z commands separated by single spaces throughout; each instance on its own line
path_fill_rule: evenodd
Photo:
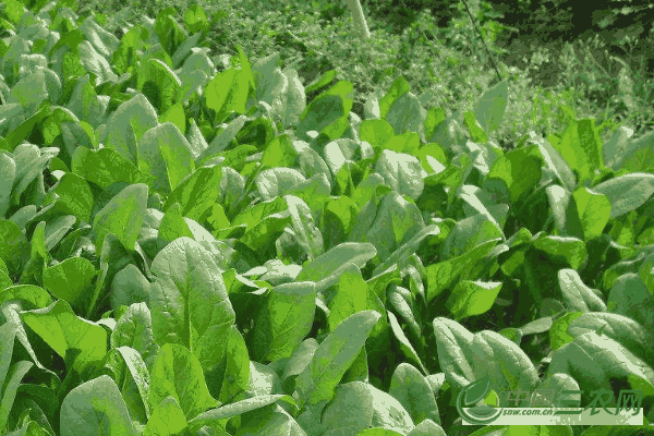
M 332 70 L 209 59 L 197 5 L 120 40 L 74 5 L 2 12 L 2 434 L 499 435 L 462 401 L 543 389 L 643 425 L 519 432 L 652 433 L 652 134 L 504 152 L 508 80 L 362 119 Z

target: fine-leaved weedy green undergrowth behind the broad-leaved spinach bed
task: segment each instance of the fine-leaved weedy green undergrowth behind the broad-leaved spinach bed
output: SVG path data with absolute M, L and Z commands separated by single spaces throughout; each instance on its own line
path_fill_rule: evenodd
M 427 108 L 439 106 L 448 113 L 471 110 L 475 99 L 498 81 L 462 3 L 459 3 L 460 16 L 439 28 L 427 10 L 407 25 L 400 14 L 389 14 L 387 9 L 364 2 L 372 33 L 364 44 L 352 26 L 344 0 L 340 0 L 342 4 L 336 1 L 326 7 L 289 0 L 197 2 L 209 19 L 225 11 L 219 25 L 209 33 L 211 59 L 222 53 L 237 55 L 234 45 L 251 61 L 279 51 L 282 68 L 296 69 L 305 85 L 336 68 L 340 78 L 354 84 L 353 111 L 360 116 L 366 96 L 377 89 L 386 90 L 399 74 L 404 75 L 416 96 L 432 90 Z M 154 17 L 158 10 L 170 5 L 178 8 L 178 20 L 182 22 L 180 11 L 192 3 L 95 0 L 86 3 L 78 14 L 104 12 L 109 17 L 108 29 L 114 32 L 124 23 L 122 20 L 136 24 L 144 14 Z M 654 125 L 653 74 L 644 56 L 633 55 L 637 44 L 652 52 L 654 32 L 641 34 L 637 40 L 620 29 L 613 35 L 616 39 L 610 45 L 606 36 L 600 35 L 572 43 L 559 38 L 544 44 L 534 35 L 509 40 L 511 29 L 502 29 L 493 20 L 496 15 L 487 3 L 470 0 L 468 4 L 473 14 L 482 16 L 479 24 L 502 77 L 511 77 L 505 123 L 494 134 L 504 148 L 513 148 L 531 130 L 540 134 L 561 133 L 567 118 L 559 104 L 577 117 L 594 118 L 602 128 L 604 142 L 619 125 L 633 129 L 637 137 Z M 615 43 L 618 37 L 619 44 Z M 611 55 L 616 50 L 621 59 Z

